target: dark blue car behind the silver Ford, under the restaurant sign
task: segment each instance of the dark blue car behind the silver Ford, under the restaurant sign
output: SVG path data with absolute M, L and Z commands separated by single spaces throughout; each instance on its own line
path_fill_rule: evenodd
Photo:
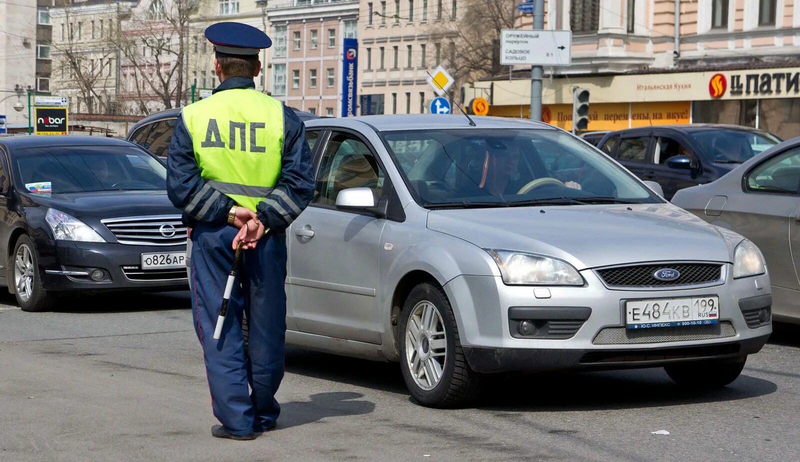
M 655 125 L 607 133 L 599 147 L 667 199 L 702 185 L 781 141 L 772 133 L 737 125 Z

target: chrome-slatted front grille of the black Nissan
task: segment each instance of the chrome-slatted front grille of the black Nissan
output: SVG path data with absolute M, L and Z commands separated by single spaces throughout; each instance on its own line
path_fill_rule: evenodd
M 180 215 L 106 218 L 101 221 L 117 242 L 127 245 L 180 245 L 186 243 L 186 226 Z

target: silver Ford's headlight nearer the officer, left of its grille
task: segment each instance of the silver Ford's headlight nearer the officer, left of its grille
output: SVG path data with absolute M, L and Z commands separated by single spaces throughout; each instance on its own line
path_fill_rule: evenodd
M 497 262 L 508 285 L 583 285 L 583 277 L 566 261 L 511 250 L 485 249 Z

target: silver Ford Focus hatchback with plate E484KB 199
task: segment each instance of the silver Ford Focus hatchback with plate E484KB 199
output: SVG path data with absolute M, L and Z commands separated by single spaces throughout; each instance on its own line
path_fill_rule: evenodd
M 448 407 L 514 370 L 663 367 L 722 387 L 770 335 L 758 248 L 570 133 L 442 115 L 306 127 L 317 186 L 287 231 L 289 345 L 398 361 L 415 400 Z

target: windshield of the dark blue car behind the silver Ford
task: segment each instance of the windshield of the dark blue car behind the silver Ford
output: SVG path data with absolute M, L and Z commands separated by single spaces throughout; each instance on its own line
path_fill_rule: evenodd
M 770 133 L 735 129 L 698 131 L 694 133 L 694 139 L 700 143 L 711 161 L 731 164 L 741 164 L 781 142 Z

